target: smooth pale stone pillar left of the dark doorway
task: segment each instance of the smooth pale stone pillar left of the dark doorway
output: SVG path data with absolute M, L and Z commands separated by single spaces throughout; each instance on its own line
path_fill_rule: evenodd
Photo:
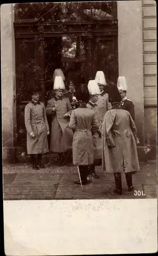
M 15 92 L 15 40 L 14 6 L 1 7 L 1 71 L 2 71 L 2 117 L 3 117 L 3 161 L 15 161 L 14 134 L 16 133 Z

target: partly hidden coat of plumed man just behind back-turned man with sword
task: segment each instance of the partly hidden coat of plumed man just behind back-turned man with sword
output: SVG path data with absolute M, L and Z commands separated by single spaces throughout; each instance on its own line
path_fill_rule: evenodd
M 98 106 L 96 103 L 88 101 L 87 108 L 94 110 L 98 122 L 98 131 L 93 135 L 93 150 L 94 150 L 94 160 L 102 158 L 102 143 L 101 143 L 101 132 L 102 132 L 102 122 L 99 115 Z

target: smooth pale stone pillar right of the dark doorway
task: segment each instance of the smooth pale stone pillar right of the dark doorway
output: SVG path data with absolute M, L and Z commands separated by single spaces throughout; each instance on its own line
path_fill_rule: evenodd
M 127 97 L 135 104 L 135 122 L 138 129 L 139 158 L 144 153 L 144 88 L 142 2 L 118 1 L 118 59 L 119 76 L 127 80 Z

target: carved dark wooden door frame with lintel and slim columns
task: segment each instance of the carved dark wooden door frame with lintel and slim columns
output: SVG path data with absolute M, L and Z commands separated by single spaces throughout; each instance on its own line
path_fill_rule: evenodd
M 37 61 L 40 66 L 41 72 L 39 74 L 39 81 L 41 87 L 41 101 L 45 101 L 45 75 L 44 75 L 44 43 L 46 37 L 60 37 L 63 35 L 70 36 L 86 36 L 89 39 L 88 47 L 89 47 L 89 58 L 90 58 L 90 77 L 94 76 L 92 70 L 92 42 L 94 37 L 100 37 L 100 39 L 114 39 L 115 38 L 115 47 L 118 47 L 118 21 L 116 17 L 107 18 L 104 20 L 91 22 L 50 22 L 45 23 L 40 19 L 38 20 L 20 20 L 14 22 L 14 33 L 15 33 L 15 44 L 17 40 L 26 40 L 26 41 L 34 41 L 37 49 L 40 49 Z M 16 54 L 16 53 L 15 53 Z M 17 71 L 16 71 L 17 72 Z M 16 74 L 17 75 L 17 74 Z M 16 99 L 18 95 L 16 96 Z M 23 102 L 21 106 L 27 104 L 27 102 Z M 16 113 L 18 104 L 16 102 Z M 20 104 L 19 104 L 20 106 Z M 17 123 L 16 123 L 17 126 Z M 18 127 L 17 127 L 18 134 Z M 24 144 L 20 144 L 25 146 Z M 19 144 L 15 140 L 15 146 L 19 146 Z

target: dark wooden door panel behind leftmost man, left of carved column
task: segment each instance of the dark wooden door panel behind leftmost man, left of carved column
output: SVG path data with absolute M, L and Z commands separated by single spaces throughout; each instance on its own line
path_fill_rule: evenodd
M 17 111 L 17 144 L 25 145 L 27 131 L 24 125 L 24 108 L 30 101 L 30 89 L 38 85 L 38 66 L 36 42 L 16 40 L 16 111 Z

